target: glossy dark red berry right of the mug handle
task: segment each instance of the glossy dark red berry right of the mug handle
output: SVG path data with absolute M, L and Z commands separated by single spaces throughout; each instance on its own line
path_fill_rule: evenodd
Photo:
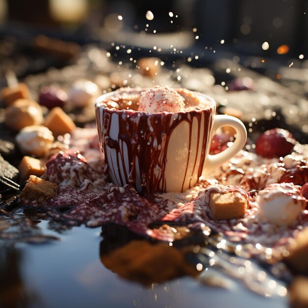
M 273 128 L 261 134 L 255 152 L 265 158 L 280 157 L 290 154 L 295 144 L 296 140 L 289 131 Z

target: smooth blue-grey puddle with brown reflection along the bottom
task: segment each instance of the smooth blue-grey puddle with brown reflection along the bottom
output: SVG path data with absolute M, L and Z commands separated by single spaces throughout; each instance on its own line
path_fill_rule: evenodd
M 204 285 L 186 245 L 34 221 L 53 240 L 1 240 L 0 307 L 287 307 L 286 297 L 261 297 L 236 280 L 229 289 Z

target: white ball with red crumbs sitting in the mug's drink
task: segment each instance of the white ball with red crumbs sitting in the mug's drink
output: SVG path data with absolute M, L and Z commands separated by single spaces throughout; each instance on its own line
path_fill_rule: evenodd
M 169 87 L 155 86 L 143 92 L 139 99 L 139 111 L 179 112 L 184 108 L 184 97 Z

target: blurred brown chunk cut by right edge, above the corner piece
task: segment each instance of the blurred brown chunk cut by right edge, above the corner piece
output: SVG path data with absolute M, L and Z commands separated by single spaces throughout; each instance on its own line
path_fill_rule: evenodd
M 308 275 L 308 228 L 298 233 L 288 251 L 289 255 L 284 258 L 284 262 L 293 272 Z

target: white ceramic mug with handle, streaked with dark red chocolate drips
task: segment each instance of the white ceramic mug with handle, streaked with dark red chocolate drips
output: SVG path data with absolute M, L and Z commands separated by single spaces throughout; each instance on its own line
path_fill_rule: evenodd
M 127 100 L 135 105 L 141 89 L 120 89 L 97 99 L 99 142 L 113 183 L 131 184 L 138 192 L 185 191 L 196 185 L 202 173 L 219 167 L 243 148 L 247 133 L 239 119 L 215 115 L 215 100 L 208 95 L 176 90 L 192 107 L 173 113 L 107 107 L 108 102 L 117 102 L 121 109 Z M 205 107 L 194 108 L 190 94 L 202 99 Z M 225 151 L 210 155 L 212 137 L 222 126 L 234 127 L 236 140 Z

